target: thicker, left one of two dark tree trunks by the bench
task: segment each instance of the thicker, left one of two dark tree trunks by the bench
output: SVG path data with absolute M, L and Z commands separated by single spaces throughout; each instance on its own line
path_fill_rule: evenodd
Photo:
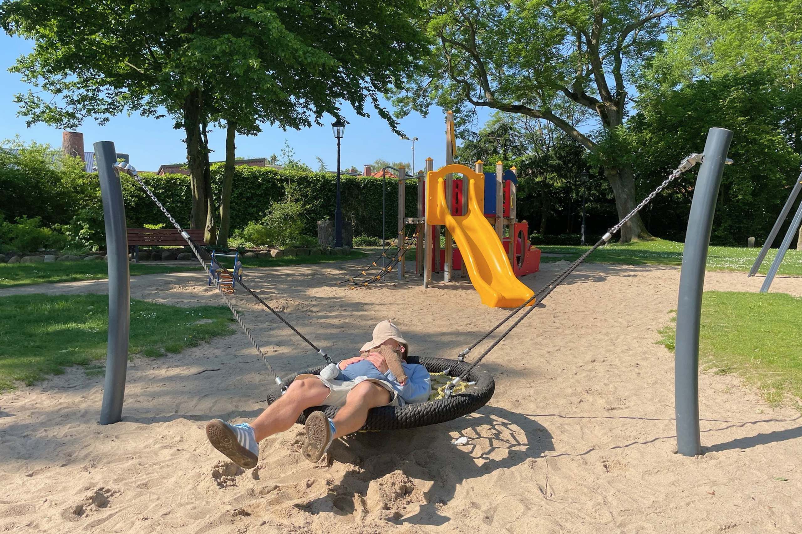
M 192 90 L 184 102 L 184 133 L 187 136 L 187 163 L 192 188 L 190 228 L 204 228 L 209 205 L 206 199 L 204 143 L 201 136 L 201 91 Z

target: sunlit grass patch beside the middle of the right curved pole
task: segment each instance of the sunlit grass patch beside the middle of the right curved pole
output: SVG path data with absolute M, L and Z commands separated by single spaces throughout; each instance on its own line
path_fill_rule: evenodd
M 784 293 L 705 291 L 699 360 L 716 375 L 739 375 L 771 404 L 802 399 L 802 299 Z M 674 324 L 659 343 L 674 350 Z

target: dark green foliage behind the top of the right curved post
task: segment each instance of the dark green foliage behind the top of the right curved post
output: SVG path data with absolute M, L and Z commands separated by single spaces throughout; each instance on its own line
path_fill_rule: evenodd
M 701 152 L 711 126 L 733 130 L 729 157 L 735 163 L 724 171 L 711 242 L 740 245 L 751 236 L 763 241 L 800 166 L 800 156 L 781 130 L 782 98 L 766 73 L 731 74 L 656 90 L 643 99 L 628 125 L 638 147 L 639 193 L 654 189 L 684 156 Z M 646 212 L 644 219 L 655 221 L 660 235 L 684 235 L 692 179 L 693 173 L 683 175 Z

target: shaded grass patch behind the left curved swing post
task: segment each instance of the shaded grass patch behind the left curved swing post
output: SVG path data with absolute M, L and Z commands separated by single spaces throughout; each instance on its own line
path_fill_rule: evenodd
M 225 306 L 192 308 L 131 301 L 130 354 L 156 357 L 180 352 L 217 335 L 233 333 Z M 106 358 L 107 295 L 13 295 L 0 297 L 0 392 L 67 365 L 102 374 Z

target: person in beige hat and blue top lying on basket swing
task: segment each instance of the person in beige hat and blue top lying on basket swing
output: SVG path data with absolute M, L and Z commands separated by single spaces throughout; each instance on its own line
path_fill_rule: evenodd
M 235 464 L 250 469 L 256 467 L 261 440 L 288 430 L 306 408 L 338 406 L 334 419 L 323 412 L 313 412 L 306 418 L 302 454 L 306 460 L 317 462 L 335 438 L 362 428 L 371 408 L 429 399 L 429 371 L 423 365 L 407 363 L 408 355 L 409 345 L 399 328 L 382 321 L 373 329 L 373 339 L 355 358 L 331 363 L 320 375 L 298 375 L 286 393 L 253 423 L 209 421 L 206 436 Z

